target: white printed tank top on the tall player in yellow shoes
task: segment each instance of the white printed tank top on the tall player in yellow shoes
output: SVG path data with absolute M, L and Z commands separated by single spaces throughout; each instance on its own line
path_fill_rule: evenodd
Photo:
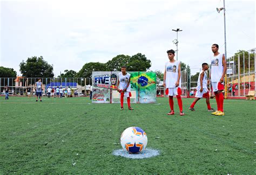
M 217 56 L 211 58 L 211 81 L 219 82 L 223 74 L 222 64 L 223 54 L 219 53 Z

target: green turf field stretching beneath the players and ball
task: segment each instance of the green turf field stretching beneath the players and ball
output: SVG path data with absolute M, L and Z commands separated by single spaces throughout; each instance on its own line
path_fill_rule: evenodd
M 225 116 L 213 116 L 200 100 L 183 99 L 185 116 L 174 116 L 167 98 L 157 104 L 91 104 L 87 97 L 47 99 L 0 97 L 0 173 L 255 174 L 255 101 L 225 100 Z M 160 103 L 160 104 L 159 104 Z M 211 100 L 216 107 L 215 100 Z M 147 159 L 113 156 L 123 130 L 137 126 Z

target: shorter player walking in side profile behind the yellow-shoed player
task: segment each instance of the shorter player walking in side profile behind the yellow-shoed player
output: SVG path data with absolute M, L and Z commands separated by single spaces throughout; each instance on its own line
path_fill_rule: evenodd
M 197 103 L 198 100 L 200 100 L 202 97 L 205 97 L 206 104 L 208 111 L 214 111 L 213 108 L 211 108 L 210 104 L 210 95 L 207 88 L 207 73 L 205 71 L 208 70 L 208 64 L 203 63 L 202 64 L 202 70 L 199 73 L 198 81 L 197 81 L 197 92 L 196 92 L 196 99 L 194 99 L 193 103 L 191 104 L 190 110 L 194 111 L 194 105 Z

